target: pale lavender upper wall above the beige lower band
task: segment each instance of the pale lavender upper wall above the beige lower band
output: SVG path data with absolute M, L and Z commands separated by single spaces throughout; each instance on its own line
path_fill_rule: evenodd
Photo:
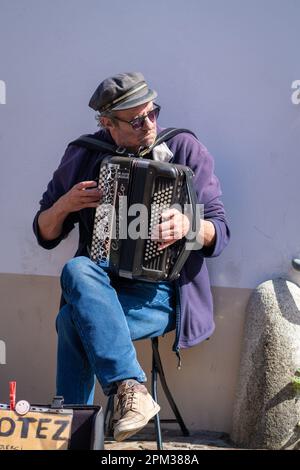
M 213 284 L 296 276 L 299 17 L 299 0 L 0 0 L 0 272 L 56 275 L 72 256 L 75 235 L 36 245 L 38 200 L 66 144 L 96 130 L 98 83 L 140 70 L 161 125 L 194 130 L 215 157 L 232 241 Z

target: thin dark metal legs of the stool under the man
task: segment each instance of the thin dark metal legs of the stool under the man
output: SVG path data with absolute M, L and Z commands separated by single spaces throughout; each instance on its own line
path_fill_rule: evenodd
M 157 449 L 163 450 L 160 423 L 178 423 L 183 436 L 189 436 L 190 433 L 184 424 L 183 418 L 177 408 L 174 398 L 167 385 L 160 354 L 159 354 L 159 349 L 158 349 L 158 337 L 151 338 L 151 344 L 152 344 L 151 395 L 153 399 L 157 402 L 157 376 L 159 375 L 162 389 L 175 415 L 175 419 L 174 418 L 173 419 L 160 419 L 159 413 L 158 413 L 157 415 L 154 416 L 154 419 L 150 421 L 150 422 L 154 422 L 155 424 Z M 113 435 L 114 397 L 115 397 L 114 395 L 109 396 L 106 409 L 105 409 L 104 432 L 106 436 Z

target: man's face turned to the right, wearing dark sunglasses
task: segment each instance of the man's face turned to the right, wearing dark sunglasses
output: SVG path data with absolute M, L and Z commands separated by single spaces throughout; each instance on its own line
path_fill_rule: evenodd
M 108 119 L 105 127 L 109 129 L 116 144 L 133 151 L 137 151 L 140 147 L 149 147 L 156 138 L 156 120 L 154 119 L 152 122 L 147 117 L 141 129 L 137 130 L 134 129 L 131 124 L 124 121 L 132 121 L 137 117 L 146 116 L 154 107 L 155 105 L 153 102 L 149 101 L 148 103 L 141 104 L 135 108 L 115 111 L 113 113 L 117 118 L 115 122 L 111 122 L 108 118 L 104 118 L 105 120 Z M 111 126 L 107 124 L 111 124 Z

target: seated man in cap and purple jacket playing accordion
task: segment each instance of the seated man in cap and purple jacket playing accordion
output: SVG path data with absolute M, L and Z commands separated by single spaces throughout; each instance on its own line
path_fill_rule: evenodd
M 104 80 L 89 106 L 102 129 L 94 137 L 136 154 L 149 148 L 161 130 L 157 93 L 141 73 Z M 34 220 L 38 242 L 52 249 L 79 223 L 79 247 L 64 267 L 61 286 L 66 304 L 57 317 L 57 393 L 67 403 L 91 403 L 94 377 L 106 395 L 117 392 L 120 418 L 114 436 L 123 440 L 139 431 L 159 411 L 143 382 L 133 341 L 176 329 L 174 351 L 208 338 L 214 329 L 212 296 L 205 257 L 226 246 L 229 230 L 220 201 L 213 160 L 191 134 L 182 133 L 155 147 L 147 158 L 188 165 L 195 173 L 198 202 L 205 220 L 197 237 L 203 247 L 192 251 L 176 282 L 141 282 L 116 278 L 88 256 L 93 212 L 99 205 L 95 162 L 99 152 L 70 145 L 40 201 Z M 169 209 L 152 234 L 163 249 L 183 238 L 189 220 Z M 179 302 L 180 301 L 180 302 Z

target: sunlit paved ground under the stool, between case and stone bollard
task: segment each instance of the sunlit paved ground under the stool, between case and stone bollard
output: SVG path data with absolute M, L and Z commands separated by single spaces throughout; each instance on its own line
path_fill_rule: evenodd
M 184 437 L 179 430 L 162 430 L 164 450 L 237 450 L 230 442 L 228 434 L 211 431 L 191 432 Z M 153 426 L 147 426 L 141 433 L 132 438 L 116 442 L 113 439 L 105 440 L 106 450 L 157 450 Z

